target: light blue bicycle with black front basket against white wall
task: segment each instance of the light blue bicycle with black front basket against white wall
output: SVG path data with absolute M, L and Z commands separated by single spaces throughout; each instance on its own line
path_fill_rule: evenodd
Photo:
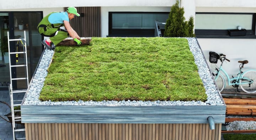
M 219 89 L 219 92 L 222 92 L 223 89 L 226 87 L 226 80 L 224 78 L 224 75 L 227 77 L 228 85 L 232 85 L 234 88 L 237 89 L 238 92 L 240 92 L 238 89 L 239 86 L 246 93 L 256 92 L 256 70 L 249 69 L 244 72 L 242 71 L 242 69 L 244 68 L 244 64 L 249 63 L 247 60 L 238 61 L 238 63 L 241 63 L 239 65 L 239 73 L 236 77 L 232 76 L 232 78 L 230 78 L 228 73 L 222 68 L 223 62 L 230 62 L 230 60 L 226 58 L 226 55 L 218 54 L 216 52 L 209 52 L 209 55 L 210 63 L 217 63 L 218 60 L 220 60 L 221 62 L 220 66 L 218 68 L 215 68 L 215 71 L 212 72 L 214 81 Z M 223 72 L 224 75 L 221 72 Z

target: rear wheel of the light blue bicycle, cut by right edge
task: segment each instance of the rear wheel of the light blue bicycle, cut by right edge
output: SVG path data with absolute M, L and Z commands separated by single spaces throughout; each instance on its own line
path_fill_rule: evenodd
M 253 82 L 243 84 L 246 82 L 250 82 L 250 80 L 246 80 L 244 79 L 244 77 L 246 77 L 247 79 L 250 79 Z M 256 71 L 250 70 L 245 72 L 242 75 L 242 79 L 240 80 L 240 86 L 241 86 L 241 89 L 246 93 L 255 93 L 256 92 Z

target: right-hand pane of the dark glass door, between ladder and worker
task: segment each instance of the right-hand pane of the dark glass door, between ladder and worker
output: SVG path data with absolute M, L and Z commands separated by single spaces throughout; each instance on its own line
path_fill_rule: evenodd
M 42 36 L 37 31 L 37 25 L 42 19 L 42 12 L 28 12 L 20 11 L 13 12 L 14 23 L 14 38 L 26 37 L 27 48 L 27 62 L 28 62 L 28 79 L 31 80 L 37 64 L 43 52 Z M 26 36 L 24 36 L 24 31 Z M 17 43 L 16 43 L 17 44 Z M 17 51 L 23 51 L 23 46 L 19 43 L 19 46 L 15 48 Z M 14 56 L 15 57 L 15 56 Z M 16 57 L 16 65 L 24 64 L 24 55 L 20 54 Z M 16 76 L 25 77 L 24 68 L 16 68 Z M 26 88 L 26 80 L 17 80 L 17 89 Z

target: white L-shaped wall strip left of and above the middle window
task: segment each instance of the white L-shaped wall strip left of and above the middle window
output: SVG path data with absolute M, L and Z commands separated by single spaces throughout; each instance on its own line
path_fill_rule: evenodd
M 101 7 L 101 36 L 108 35 L 108 12 L 170 12 L 171 7 L 154 7 L 154 6 L 111 6 Z

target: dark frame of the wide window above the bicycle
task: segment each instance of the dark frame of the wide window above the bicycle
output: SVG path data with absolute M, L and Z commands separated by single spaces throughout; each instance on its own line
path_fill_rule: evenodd
M 195 29 L 197 38 L 235 38 L 235 39 L 256 39 L 256 13 L 230 13 L 230 12 L 196 12 L 196 14 L 251 14 L 252 15 L 252 29 L 246 30 L 245 36 L 229 36 L 228 29 Z

